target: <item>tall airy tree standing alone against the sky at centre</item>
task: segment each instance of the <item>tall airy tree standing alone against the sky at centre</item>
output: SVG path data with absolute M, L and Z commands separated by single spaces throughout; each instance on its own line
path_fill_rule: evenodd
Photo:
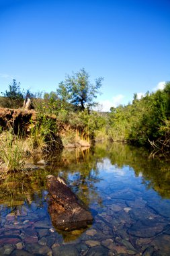
M 60 82 L 56 90 L 63 102 L 69 102 L 78 106 L 81 110 L 90 109 L 97 103 L 94 101 L 99 93 L 103 77 L 95 79 L 95 84 L 89 81 L 89 74 L 85 69 L 81 69 L 73 75 L 67 75 L 65 82 Z

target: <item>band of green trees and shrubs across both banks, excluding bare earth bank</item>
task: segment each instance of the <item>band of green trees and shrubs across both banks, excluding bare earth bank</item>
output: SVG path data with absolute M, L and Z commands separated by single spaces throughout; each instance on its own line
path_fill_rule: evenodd
M 136 146 L 153 146 L 155 152 L 168 152 L 170 146 L 170 82 L 163 90 L 146 92 L 139 100 L 134 94 L 132 103 L 116 108 L 110 113 L 93 110 L 100 93 L 103 77 L 92 84 L 85 69 L 67 75 L 58 84 L 56 92 L 33 94 L 22 91 L 13 79 L 9 90 L 0 98 L 0 106 L 22 107 L 26 96 L 32 98 L 39 113 L 54 114 L 58 121 L 83 127 L 91 139 L 127 141 Z

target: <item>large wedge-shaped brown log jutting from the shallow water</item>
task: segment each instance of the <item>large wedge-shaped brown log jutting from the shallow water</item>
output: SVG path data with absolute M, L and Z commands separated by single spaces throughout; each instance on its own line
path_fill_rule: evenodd
M 49 175 L 47 187 L 50 196 L 48 212 L 55 228 L 70 231 L 92 224 L 91 213 L 71 191 L 65 179 Z

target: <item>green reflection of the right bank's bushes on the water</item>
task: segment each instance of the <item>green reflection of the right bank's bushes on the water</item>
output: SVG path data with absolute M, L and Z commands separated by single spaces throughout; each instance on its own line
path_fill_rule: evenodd
M 97 154 L 100 152 L 102 157 L 109 157 L 112 164 L 116 164 L 119 168 L 130 166 L 136 177 L 142 174 L 142 181 L 148 188 L 153 187 L 162 197 L 170 198 L 170 167 L 168 162 L 149 159 L 149 153 L 143 148 L 136 148 L 123 143 L 99 144 L 96 146 L 95 152 Z

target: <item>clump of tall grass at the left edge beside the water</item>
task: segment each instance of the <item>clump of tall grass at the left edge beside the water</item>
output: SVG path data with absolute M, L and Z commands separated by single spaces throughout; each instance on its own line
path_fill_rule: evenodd
M 0 136 L 0 158 L 5 172 L 22 170 L 25 161 L 24 143 L 13 131 L 4 131 Z

